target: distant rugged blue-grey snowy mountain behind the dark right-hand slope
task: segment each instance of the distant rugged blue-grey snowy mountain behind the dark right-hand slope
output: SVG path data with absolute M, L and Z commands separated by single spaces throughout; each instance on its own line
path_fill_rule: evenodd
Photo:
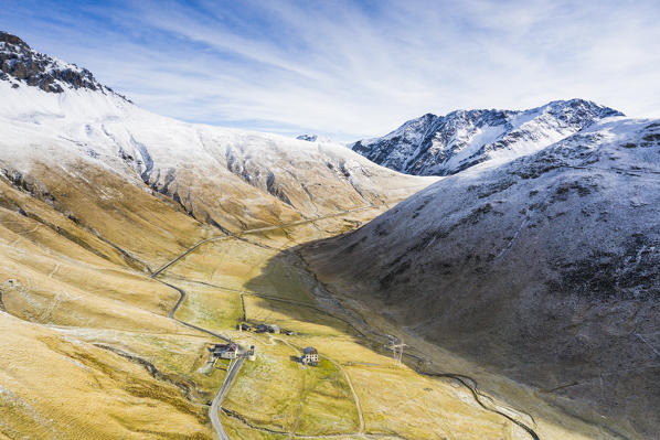
M 583 99 L 552 101 L 524 111 L 427 114 L 382 138 L 349 147 L 400 172 L 450 175 L 479 163 L 499 164 L 533 153 L 611 116 L 624 115 Z

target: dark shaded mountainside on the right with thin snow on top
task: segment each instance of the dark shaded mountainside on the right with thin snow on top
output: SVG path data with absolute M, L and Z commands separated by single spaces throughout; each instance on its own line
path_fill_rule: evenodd
M 660 120 L 445 178 L 305 253 L 440 346 L 626 438 L 660 432 Z

